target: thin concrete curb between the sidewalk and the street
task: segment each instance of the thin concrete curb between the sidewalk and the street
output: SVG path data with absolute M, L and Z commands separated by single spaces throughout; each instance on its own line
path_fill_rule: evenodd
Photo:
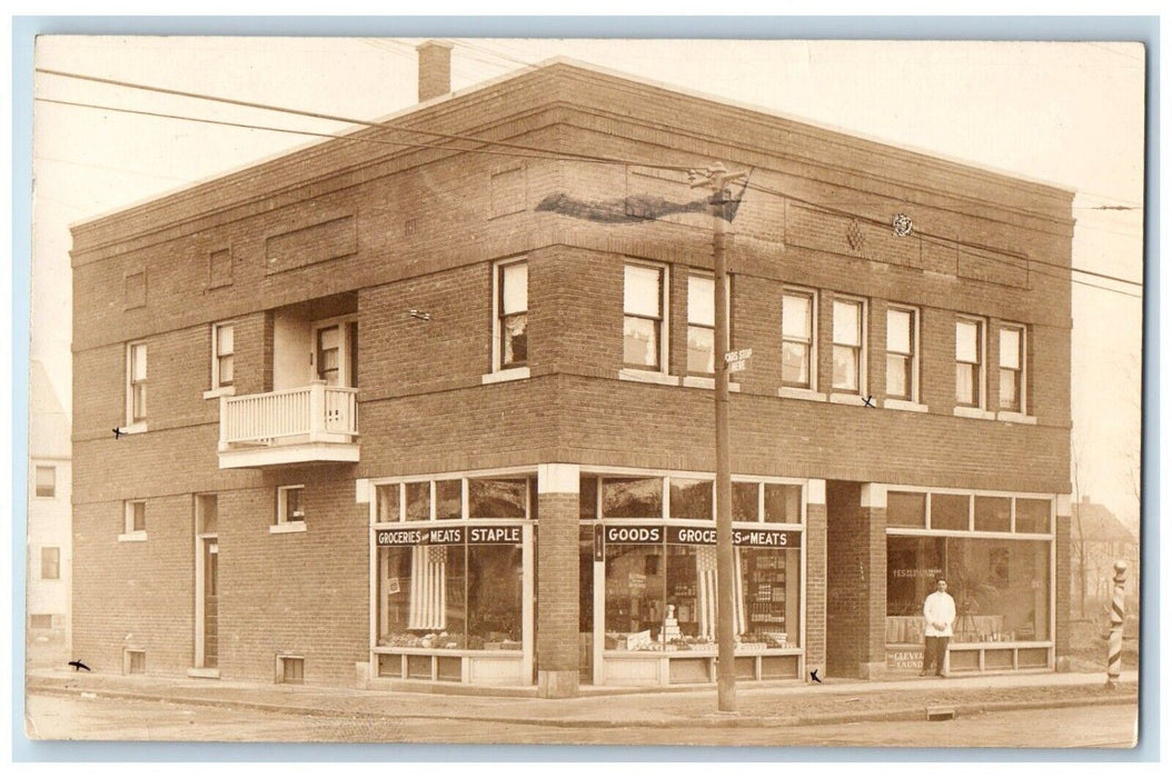
M 251 699 L 211 699 L 207 697 L 183 697 L 175 695 L 159 695 L 139 691 L 124 691 L 121 689 L 77 689 L 59 685 L 29 684 L 28 692 L 38 692 L 56 696 L 75 696 L 80 694 L 93 694 L 98 697 L 117 697 L 121 699 L 139 699 L 144 702 L 164 702 L 175 705 L 203 705 L 209 708 L 240 708 L 246 710 L 258 710 L 264 712 L 286 714 L 295 716 L 336 716 L 352 718 L 397 718 L 411 721 L 465 721 L 488 722 L 492 724 L 512 724 L 526 726 L 553 726 L 563 729 L 631 729 L 631 728 L 663 728 L 663 726 L 706 726 L 711 729 L 761 729 L 771 726 L 812 726 L 819 724 L 847 724 L 852 722 L 898 722 L 898 721 L 922 721 L 927 716 L 927 708 L 924 705 L 911 708 L 891 708 L 886 710 L 870 710 L 845 714 L 812 714 L 809 716 L 729 716 L 729 715 L 703 715 L 703 716 L 679 716 L 663 718 L 640 718 L 632 721 L 602 719 L 602 718 L 537 718 L 531 716 L 472 716 L 461 715 L 459 711 L 452 714 L 406 714 L 391 715 L 367 710 L 340 710 L 336 708 L 325 708 L 319 705 L 289 705 L 280 703 L 257 702 Z M 1024 701 L 1024 702 L 987 702 L 987 703 L 959 703 L 953 705 L 956 716 L 973 716 L 977 714 L 997 712 L 1006 710 L 1054 710 L 1056 708 L 1084 708 L 1095 705 L 1119 705 L 1137 703 L 1134 695 L 1111 695 L 1111 696 L 1086 696 L 1056 701 Z

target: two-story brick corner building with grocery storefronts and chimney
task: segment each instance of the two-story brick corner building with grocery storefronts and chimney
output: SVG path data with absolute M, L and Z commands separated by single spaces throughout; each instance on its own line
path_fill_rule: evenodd
M 74 228 L 75 654 L 326 684 L 1054 667 L 1068 191 L 553 61 Z M 652 217 L 655 218 L 652 218 Z M 891 225 L 895 217 L 899 230 Z M 116 436 L 118 428 L 127 435 Z

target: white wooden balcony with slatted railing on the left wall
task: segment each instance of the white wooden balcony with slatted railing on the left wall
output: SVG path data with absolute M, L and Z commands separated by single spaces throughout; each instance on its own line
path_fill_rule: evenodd
M 313 381 L 220 397 L 220 469 L 357 460 L 357 389 Z

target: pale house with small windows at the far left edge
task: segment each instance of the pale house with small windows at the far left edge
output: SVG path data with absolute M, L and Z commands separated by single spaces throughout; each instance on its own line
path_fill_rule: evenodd
M 41 362 L 29 373 L 26 646 L 30 667 L 69 661 L 73 513 L 69 417 Z

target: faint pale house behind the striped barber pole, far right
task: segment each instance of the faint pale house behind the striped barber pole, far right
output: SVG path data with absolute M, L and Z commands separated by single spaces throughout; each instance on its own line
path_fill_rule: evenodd
M 1127 562 L 1124 592 L 1127 598 L 1138 598 L 1139 540 L 1136 535 L 1105 505 L 1091 503 L 1090 497 L 1083 496 L 1070 509 L 1071 613 L 1079 612 L 1079 596 L 1083 592 L 1088 605 L 1093 600 L 1101 606 L 1111 598 L 1115 591 L 1116 560 Z M 1085 589 L 1079 586 L 1079 573 L 1085 581 Z M 1096 607 L 1096 612 L 1098 609 Z

